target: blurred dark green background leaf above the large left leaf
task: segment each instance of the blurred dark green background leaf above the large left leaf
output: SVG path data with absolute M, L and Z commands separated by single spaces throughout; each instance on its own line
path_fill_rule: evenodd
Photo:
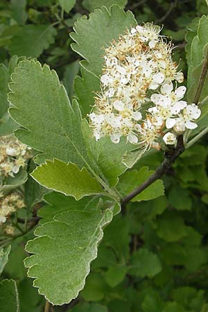
M 40 56 L 44 49 L 54 42 L 57 34 L 51 25 L 26 25 L 21 27 L 12 37 L 9 51 L 11 55 L 25 55 L 26 57 Z

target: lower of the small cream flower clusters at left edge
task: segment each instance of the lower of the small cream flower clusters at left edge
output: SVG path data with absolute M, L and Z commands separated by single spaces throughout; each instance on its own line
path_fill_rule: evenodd
M 0 225 L 6 223 L 7 218 L 12 212 L 25 207 L 24 200 L 18 193 L 10 193 L 7 196 L 0 197 Z

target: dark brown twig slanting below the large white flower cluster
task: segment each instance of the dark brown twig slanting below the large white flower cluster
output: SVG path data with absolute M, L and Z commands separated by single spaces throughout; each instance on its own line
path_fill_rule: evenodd
M 168 170 L 171 168 L 173 163 L 175 162 L 175 159 L 182 154 L 184 151 L 184 143 L 183 143 L 183 137 L 182 135 L 178 137 L 177 139 L 177 146 L 175 150 L 173 150 L 173 153 L 167 154 L 162 162 L 162 164 L 156 169 L 155 173 L 153 175 L 150 175 L 148 180 L 146 180 L 144 183 L 139 185 L 136 189 L 134 189 L 132 192 L 130 192 L 127 196 L 123 198 L 121 201 L 121 207 L 124 208 L 125 205 L 132 200 L 132 198 L 135 198 L 135 196 L 139 195 L 142 191 L 144 191 L 147 187 L 149 187 L 153 182 L 158 180 L 162 175 L 168 172 Z

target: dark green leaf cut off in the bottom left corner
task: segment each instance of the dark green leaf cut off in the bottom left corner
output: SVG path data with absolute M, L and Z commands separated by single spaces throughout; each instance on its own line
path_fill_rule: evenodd
M 19 312 L 17 285 L 12 279 L 0 282 L 0 309 L 2 312 Z

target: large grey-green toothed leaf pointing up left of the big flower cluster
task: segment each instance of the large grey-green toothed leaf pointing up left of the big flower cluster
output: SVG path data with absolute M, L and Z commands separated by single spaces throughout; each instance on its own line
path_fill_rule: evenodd
M 25 128 L 15 132 L 20 141 L 44 153 L 43 159 L 89 164 L 80 110 L 69 103 L 55 71 L 33 60 L 20 62 L 10 90 L 10 115 Z

